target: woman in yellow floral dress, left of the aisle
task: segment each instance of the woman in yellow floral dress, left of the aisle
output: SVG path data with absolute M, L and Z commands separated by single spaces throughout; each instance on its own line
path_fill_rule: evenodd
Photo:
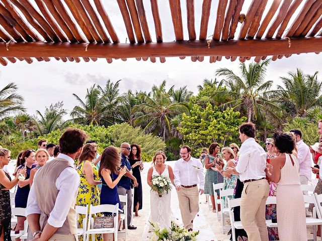
M 98 175 L 97 167 L 92 163 L 92 160 L 96 157 L 97 147 L 93 144 L 86 144 L 83 148 L 81 156 L 78 158 L 77 172 L 81 177 L 81 183 L 79 184 L 78 194 L 76 198 L 76 205 L 99 205 L 100 204 L 100 192 L 97 187 L 101 184 L 100 177 Z M 85 215 L 79 214 L 78 226 L 83 227 L 83 219 Z M 83 240 L 83 236 L 78 237 L 79 241 Z M 96 241 L 101 240 L 100 235 L 95 235 Z M 90 236 L 91 240 L 91 236 Z

